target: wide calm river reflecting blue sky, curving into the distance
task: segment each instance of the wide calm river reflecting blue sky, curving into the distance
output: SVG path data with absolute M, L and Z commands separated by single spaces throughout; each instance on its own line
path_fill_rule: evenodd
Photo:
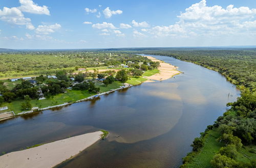
M 58 167 L 178 167 L 191 151 L 193 139 L 240 92 L 215 71 L 151 56 L 184 73 L 1 122 L 0 152 L 103 129 L 110 131 L 108 138 Z

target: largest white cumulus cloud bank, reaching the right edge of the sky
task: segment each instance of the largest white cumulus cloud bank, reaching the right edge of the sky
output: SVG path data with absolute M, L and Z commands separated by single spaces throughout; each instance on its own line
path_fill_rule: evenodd
M 234 8 L 229 5 L 207 6 L 206 0 L 191 5 L 177 16 L 180 20 L 168 26 L 155 26 L 145 30 L 159 36 L 221 36 L 256 33 L 256 9 Z

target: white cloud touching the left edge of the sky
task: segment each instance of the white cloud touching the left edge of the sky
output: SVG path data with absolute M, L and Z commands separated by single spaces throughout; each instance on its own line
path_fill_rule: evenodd
M 26 25 L 27 29 L 29 30 L 35 29 L 31 23 L 31 19 L 25 18 L 22 11 L 16 7 L 4 7 L 3 10 L 0 9 L 0 20 L 6 21 L 10 24 Z

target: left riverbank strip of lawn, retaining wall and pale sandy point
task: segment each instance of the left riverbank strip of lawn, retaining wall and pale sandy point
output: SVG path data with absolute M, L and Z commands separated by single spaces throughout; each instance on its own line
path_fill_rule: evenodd
M 116 90 L 124 89 L 127 87 L 132 87 L 135 85 L 140 85 L 143 82 L 153 82 L 154 80 L 166 80 L 168 78 L 173 77 L 180 72 L 176 70 L 178 67 L 167 64 L 161 60 L 155 59 L 153 57 L 147 56 L 148 59 L 152 61 L 159 61 L 160 67 L 159 69 L 147 70 L 145 71 L 141 77 L 131 77 L 125 83 L 121 83 L 120 81 L 115 81 L 112 84 L 108 85 L 108 87 L 98 85 L 100 88 L 100 93 L 91 94 L 88 91 L 76 91 L 76 90 L 68 90 L 67 93 L 62 93 L 54 96 L 50 99 L 44 100 L 31 100 L 32 107 L 36 107 L 36 111 L 42 111 L 46 109 L 52 109 L 56 107 L 70 105 L 80 101 L 86 101 L 98 97 L 100 95 L 109 94 Z M 26 115 L 30 113 L 34 113 L 35 111 L 22 111 L 19 109 L 23 101 L 14 100 L 12 103 L 4 103 L 2 106 L 8 106 L 8 111 L 3 111 L 4 113 L 0 113 L 0 121 L 7 120 L 19 115 Z M 6 116 L 6 113 L 12 111 L 13 115 Z

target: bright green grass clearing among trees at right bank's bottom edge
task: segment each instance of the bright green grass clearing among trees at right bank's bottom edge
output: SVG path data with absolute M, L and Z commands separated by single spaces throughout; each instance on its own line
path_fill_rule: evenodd
M 186 167 L 212 167 L 210 164 L 212 157 L 219 152 L 221 147 L 225 146 L 223 143 L 217 141 L 218 136 L 218 131 L 209 130 L 204 137 L 204 147 Z

